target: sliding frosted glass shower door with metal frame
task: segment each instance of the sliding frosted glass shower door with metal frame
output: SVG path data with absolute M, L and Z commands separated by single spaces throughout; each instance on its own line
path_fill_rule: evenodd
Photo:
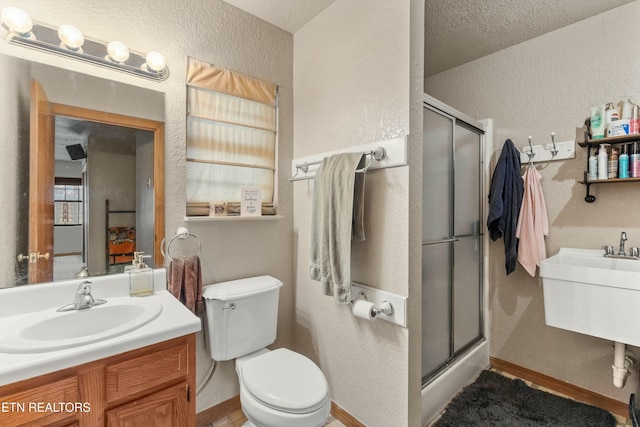
M 422 380 L 483 339 L 483 131 L 425 104 Z

